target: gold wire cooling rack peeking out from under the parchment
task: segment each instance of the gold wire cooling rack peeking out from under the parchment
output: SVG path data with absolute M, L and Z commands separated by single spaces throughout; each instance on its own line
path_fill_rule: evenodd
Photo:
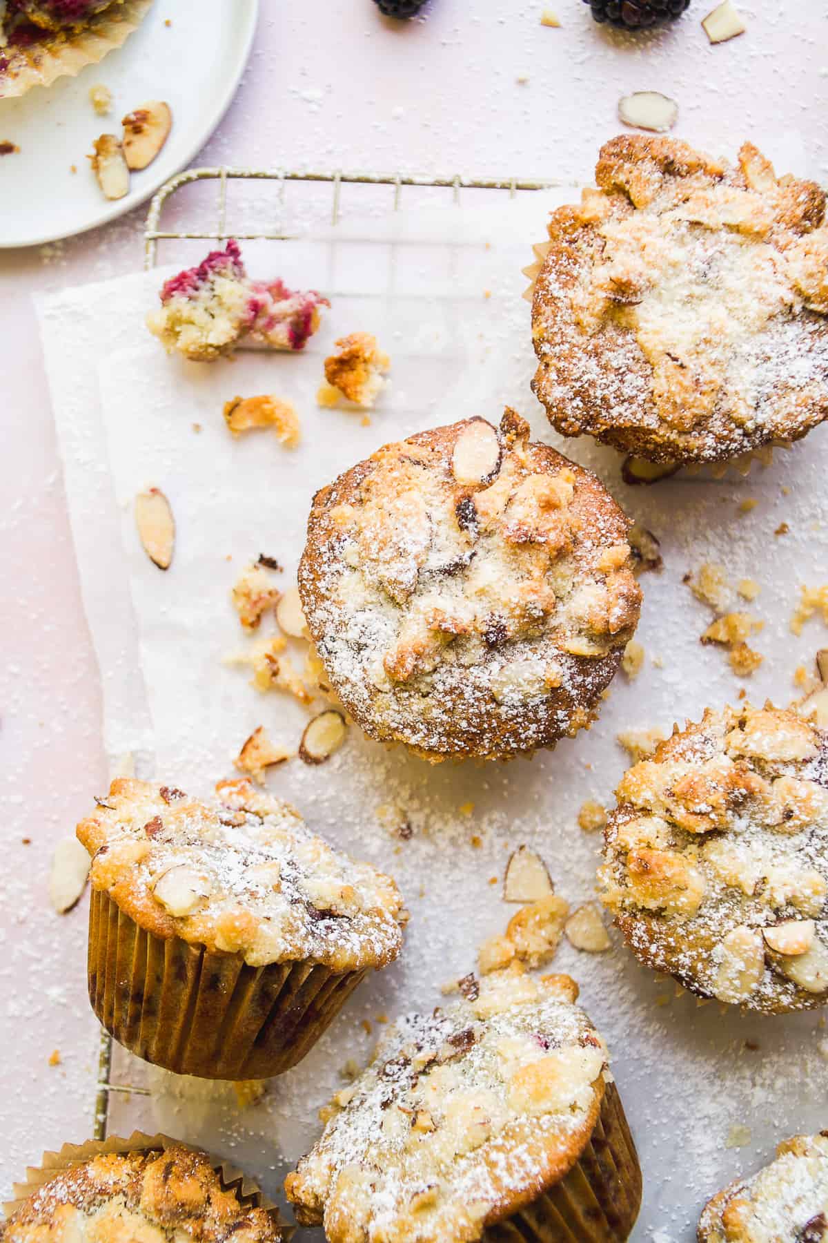
M 176 191 L 195 181 L 216 181 L 215 227 L 204 230 L 191 229 L 164 229 L 161 216 L 169 200 Z M 304 188 L 324 186 L 330 188 L 330 224 L 339 224 L 343 215 L 341 190 L 343 186 L 387 186 L 392 190 L 391 211 L 398 211 L 402 206 L 403 191 L 416 189 L 451 190 L 447 208 L 458 205 L 462 200 L 463 190 L 493 190 L 508 194 L 514 199 L 518 194 L 533 190 L 550 190 L 557 185 L 571 185 L 571 181 L 556 180 L 528 180 L 525 178 L 464 178 L 459 174 L 453 177 L 403 177 L 402 174 L 374 174 L 374 173 L 287 173 L 278 169 L 247 169 L 247 168 L 194 168 L 185 173 L 179 173 L 170 178 L 160 190 L 153 196 L 146 214 L 146 227 L 144 229 L 144 268 L 149 271 L 158 261 L 159 241 L 226 241 L 236 237 L 238 241 L 286 241 L 294 236 L 281 229 L 258 230 L 248 232 L 232 227 L 228 224 L 227 189 L 232 181 L 269 181 L 276 190 L 276 204 L 283 206 L 288 186 Z M 359 208 L 359 193 L 355 196 Z M 98 1054 L 98 1083 L 94 1104 L 94 1134 L 96 1140 L 106 1140 L 107 1124 L 109 1116 L 109 1098 L 113 1093 L 128 1093 L 137 1096 L 149 1096 L 146 1088 L 133 1084 L 119 1084 L 112 1081 L 112 1037 L 108 1032 L 101 1032 L 101 1049 Z

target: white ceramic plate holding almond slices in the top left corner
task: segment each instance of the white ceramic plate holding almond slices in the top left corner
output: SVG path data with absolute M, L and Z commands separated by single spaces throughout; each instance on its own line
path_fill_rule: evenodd
M 94 229 L 144 203 L 189 164 L 233 97 L 257 11 L 258 0 L 155 0 L 123 47 L 98 65 L 34 87 L 20 99 L 0 99 L 0 142 L 20 148 L 0 159 L 0 246 L 32 246 Z M 89 101 L 97 83 L 113 94 L 106 117 Z M 170 137 L 149 168 L 132 174 L 129 194 L 110 203 L 86 157 L 98 134 L 120 134 L 120 118 L 146 99 L 169 103 Z

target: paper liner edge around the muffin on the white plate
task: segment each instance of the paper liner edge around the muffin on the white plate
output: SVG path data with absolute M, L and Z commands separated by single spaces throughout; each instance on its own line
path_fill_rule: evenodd
M 87 65 L 102 61 L 107 52 L 120 47 L 146 15 L 153 0 L 120 0 L 113 12 L 91 17 L 77 34 L 51 35 L 29 47 L 9 45 L 2 53 L 6 67 L 0 71 L 0 98 L 25 94 L 34 86 L 51 86 L 58 77 L 74 77 Z

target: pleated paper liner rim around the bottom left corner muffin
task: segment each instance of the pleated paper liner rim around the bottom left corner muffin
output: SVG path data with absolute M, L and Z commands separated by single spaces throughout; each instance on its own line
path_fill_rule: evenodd
M 108 1152 L 150 1152 L 166 1150 L 169 1147 L 191 1149 L 194 1152 L 202 1151 L 192 1144 L 184 1144 L 181 1140 L 173 1140 L 169 1135 L 145 1135 L 144 1131 L 133 1131 L 129 1139 L 119 1139 L 110 1135 L 107 1140 L 87 1140 L 84 1144 L 65 1144 L 57 1152 L 43 1152 L 38 1166 L 26 1168 L 24 1182 L 12 1186 L 14 1199 L 7 1201 L 2 1209 L 6 1218 L 16 1213 L 17 1209 L 34 1196 L 36 1191 L 55 1178 L 63 1170 L 91 1161 L 93 1157 Z M 294 1233 L 292 1227 L 284 1226 L 274 1201 L 268 1199 L 257 1182 L 248 1178 L 246 1173 L 231 1165 L 207 1154 L 210 1165 L 218 1175 L 223 1191 L 231 1191 L 236 1199 L 246 1208 L 263 1208 L 279 1231 L 279 1238 L 287 1241 Z

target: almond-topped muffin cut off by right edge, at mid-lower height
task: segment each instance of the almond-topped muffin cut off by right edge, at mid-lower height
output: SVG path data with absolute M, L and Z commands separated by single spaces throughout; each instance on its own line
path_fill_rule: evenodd
M 701 997 L 786 1013 L 828 1001 L 828 731 L 708 710 L 616 792 L 602 899 L 633 953 Z

